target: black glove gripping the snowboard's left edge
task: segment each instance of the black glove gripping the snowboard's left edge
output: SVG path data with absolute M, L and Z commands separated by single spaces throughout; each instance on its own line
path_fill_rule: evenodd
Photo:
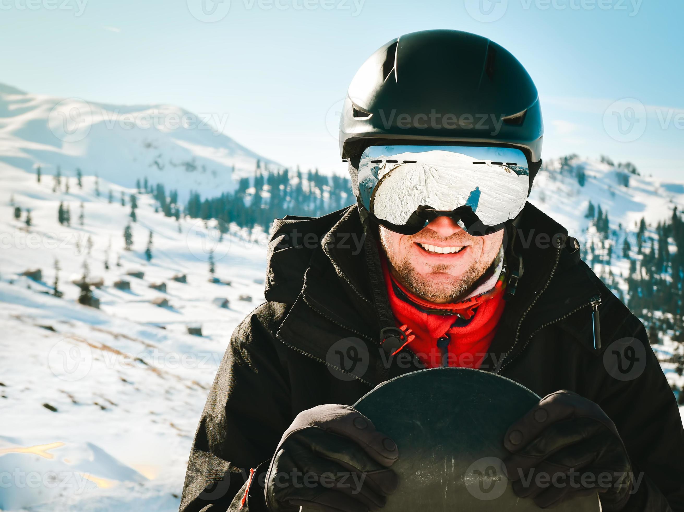
M 397 445 L 347 405 L 302 411 L 280 439 L 265 481 L 269 511 L 365 512 L 384 507 L 397 489 L 389 467 Z

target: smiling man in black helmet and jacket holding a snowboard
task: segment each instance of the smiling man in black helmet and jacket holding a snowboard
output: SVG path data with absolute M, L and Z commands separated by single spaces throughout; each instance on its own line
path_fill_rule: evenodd
M 644 327 L 525 202 L 542 133 L 531 78 L 485 38 L 417 32 L 363 64 L 341 120 L 357 205 L 276 221 L 267 303 L 226 349 L 181 511 L 382 507 L 401 454 L 351 406 L 436 366 L 544 396 L 499 440 L 518 496 L 684 510 L 684 431 Z

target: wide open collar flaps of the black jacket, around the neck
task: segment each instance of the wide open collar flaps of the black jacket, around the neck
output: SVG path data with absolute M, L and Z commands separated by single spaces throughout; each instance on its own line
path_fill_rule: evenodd
M 315 248 L 285 246 L 272 251 L 266 298 L 287 297 L 287 302 L 293 304 L 278 336 L 286 344 L 330 366 L 330 348 L 341 338 L 351 333 L 374 348 L 378 344 L 380 326 L 369 285 L 363 227 L 356 205 L 334 212 L 324 221 L 321 219 L 324 218 L 297 219 L 284 228 L 278 227 L 280 232 L 296 227 L 304 236 L 316 231 L 320 243 Z M 577 249 L 567 246 L 574 239 L 568 238 L 566 229 L 560 224 L 527 203 L 517 227 L 518 239 L 514 247 L 523 257 L 525 271 L 516 294 L 506 304 L 490 349 L 495 353 L 507 353 L 509 359 L 524 350 L 531 333 L 582 307 L 599 293 L 588 279 L 586 266 L 577 264 Z M 283 275 L 287 282 L 279 283 Z M 278 294 L 274 290 L 278 290 Z M 337 328 L 313 322 L 312 309 Z M 527 320 L 522 322 L 525 317 Z M 307 333 L 304 337 L 299 334 L 302 330 Z M 583 337 L 581 333 L 577 336 Z M 582 341 L 588 343 L 588 340 Z

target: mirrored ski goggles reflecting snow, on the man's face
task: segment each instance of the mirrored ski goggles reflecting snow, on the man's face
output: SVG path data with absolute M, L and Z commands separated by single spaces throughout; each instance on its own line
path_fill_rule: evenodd
M 358 166 L 358 201 L 405 235 L 439 216 L 471 235 L 499 231 L 522 211 L 528 190 L 527 157 L 512 148 L 370 146 Z

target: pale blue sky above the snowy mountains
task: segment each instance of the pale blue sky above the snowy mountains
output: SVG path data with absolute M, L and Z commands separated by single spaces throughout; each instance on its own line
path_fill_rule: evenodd
M 334 112 L 358 66 L 401 34 L 460 29 L 527 67 L 544 157 L 607 154 L 684 180 L 683 19 L 679 0 L 0 0 L 0 82 L 227 114 L 254 151 L 345 172 Z

